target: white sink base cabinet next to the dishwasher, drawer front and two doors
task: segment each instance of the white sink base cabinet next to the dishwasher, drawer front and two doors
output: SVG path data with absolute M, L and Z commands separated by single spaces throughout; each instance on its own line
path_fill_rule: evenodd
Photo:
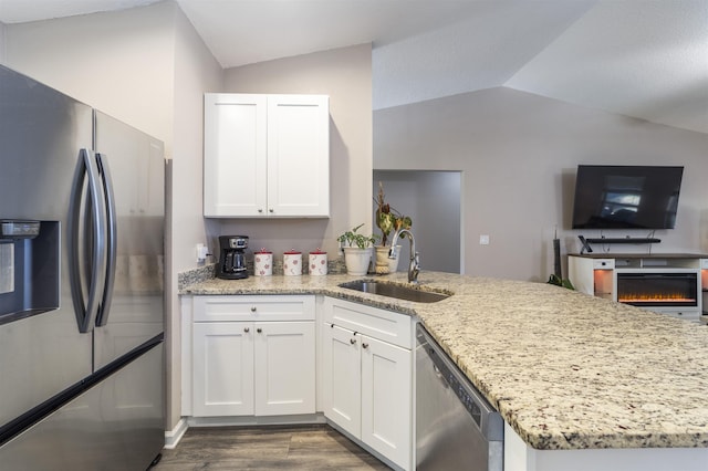
M 413 456 L 413 325 L 405 314 L 324 302 L 324 415 L 406 470 Z

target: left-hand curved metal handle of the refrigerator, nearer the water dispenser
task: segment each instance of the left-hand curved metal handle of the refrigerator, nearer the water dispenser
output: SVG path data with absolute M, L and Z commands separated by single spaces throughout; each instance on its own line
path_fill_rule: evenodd
M 86 178 L 86 176 L 88 178 Z M 86 213 L 82 210 L 84 196 L 84 180 L 86 180 Z M 69 209 L 69 260 L 70 280 L 74 311 L 79 332 L 91 332 L 95 324 L 96 315 L 101 306 L 102 289 L 105 286 L 106 278 L 106 249 L 105 249 L 105 226 L 106 226 L 106 203 L 105 193 L 100 186 L 98 165 L 91 150 L 81 149 L 79 161 L 74 172 L 72 197 Z M 87 280 L 87 300 L 84 303 L 84 289 L 82 278 L 82 260 L 80 255 L 80 234 L 82 214 L 88 221 L 90 228 L 85 228 L 88 233 L 91 252 L 88 260 L 84 261 Z

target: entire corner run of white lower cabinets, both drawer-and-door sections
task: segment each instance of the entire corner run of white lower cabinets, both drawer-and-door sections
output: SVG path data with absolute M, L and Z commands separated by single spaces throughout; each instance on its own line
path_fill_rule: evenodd
M 324 411 L 389 464 L 413 469 L 413 318 L 329 296 L 316 305 L 321 331 L 314 295 L 183 299 L 183 414 Z

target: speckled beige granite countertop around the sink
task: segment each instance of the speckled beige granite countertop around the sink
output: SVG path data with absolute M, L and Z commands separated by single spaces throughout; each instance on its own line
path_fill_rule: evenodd
M 431 304 L 337 286 L 361 278 L 187 276 L 179 290 L 327 294 L 416 315 L 535 449 L 708 447 L 705 325 L 545 283 L 421 272 L 423 289 L 455 293 Z

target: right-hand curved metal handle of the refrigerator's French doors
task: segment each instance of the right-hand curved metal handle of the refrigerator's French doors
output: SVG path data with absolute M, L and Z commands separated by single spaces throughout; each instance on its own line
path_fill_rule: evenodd
M 105 155 L 96 153 L 96 160 L 98 163 L 98 172 L 101 175 L 101 182 L 103 184 L 103 191 L 105 196 L 105 233 L 106 233 L 106 278 L 105 285 L 103 287 L 103 296 L 101 301 L 101 307 L 96 316 L 96 326 L 101 327 L 108 322 L 108 314 L 111 312 L 111 302 L 113 301 L 113 285 L 115 284 L 115 268 L 116 268 L 116 247 L 117 239 L 117 220 L 115 212 L 115 197 L 113 191 L 113 180 L 111 179 L 111 170 L 108 168 L 108 159 Z

